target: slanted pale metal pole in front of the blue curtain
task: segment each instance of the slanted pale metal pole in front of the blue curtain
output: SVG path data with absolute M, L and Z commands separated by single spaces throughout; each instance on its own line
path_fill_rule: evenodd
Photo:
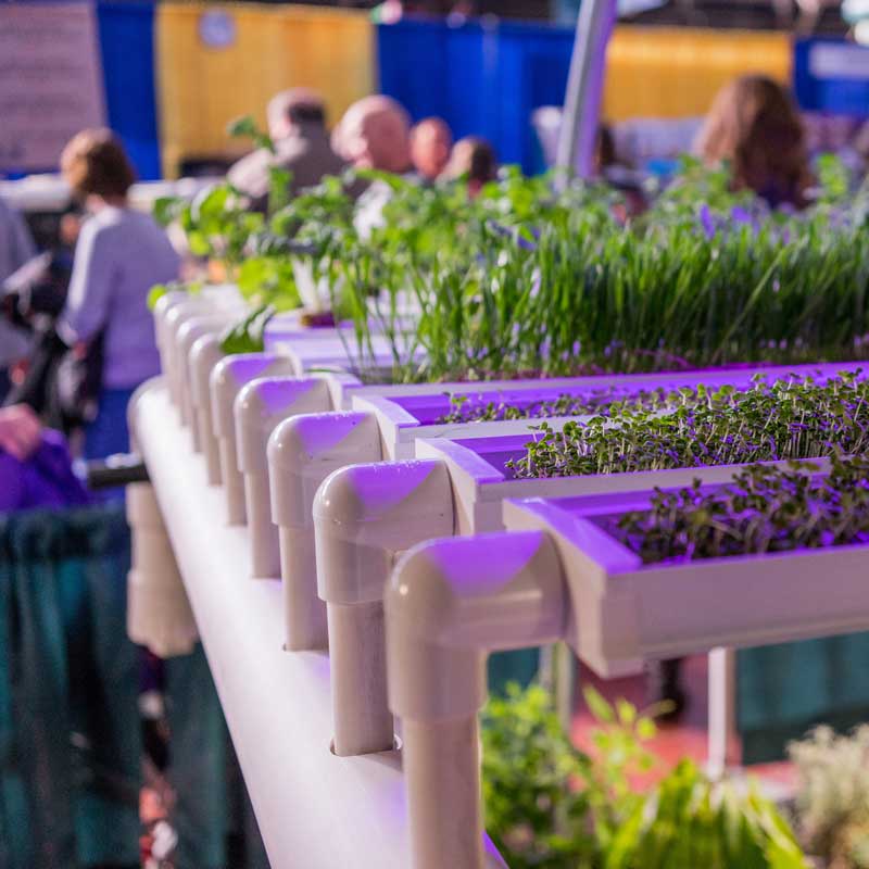
M 558 184 L 576 172 L 588 178 L 594 169 L 594 146 L 601 115 L 606 46 L 616 22 L 618 0 L 582 0 L 558 136 Z

